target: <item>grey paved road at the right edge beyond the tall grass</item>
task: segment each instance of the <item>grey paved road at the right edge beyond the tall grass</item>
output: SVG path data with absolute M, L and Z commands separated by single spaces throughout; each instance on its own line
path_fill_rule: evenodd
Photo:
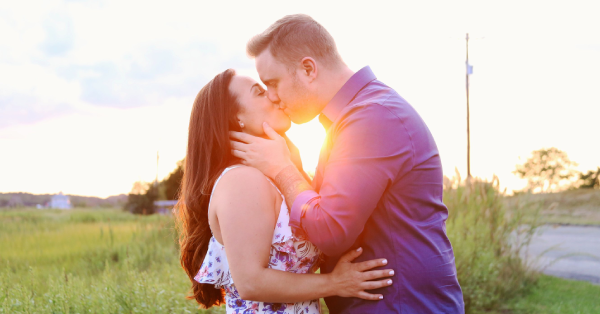
M 543 226 L 529 256 L 548 275 L 600 284 L 600 227 Z

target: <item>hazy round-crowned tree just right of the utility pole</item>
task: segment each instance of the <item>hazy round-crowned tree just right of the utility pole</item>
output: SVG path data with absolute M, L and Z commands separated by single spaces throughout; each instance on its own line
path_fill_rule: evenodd
M 529 192 L 554 192 L 573 184 L 572 179 L 578 174 L 576 166 L 566 152 L 551 147 L 533 151 L 513 173 L 527 179 Z

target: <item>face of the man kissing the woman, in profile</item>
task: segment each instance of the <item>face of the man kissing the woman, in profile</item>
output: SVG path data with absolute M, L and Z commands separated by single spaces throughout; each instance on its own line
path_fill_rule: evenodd
M 306 123 L 316 117 L 314 85 L 303 74 L 300 64 L 290 67 L 273 57 L 270 49 L 256 56 L 256 70 L 267 87 L 267 97 L 296 124 Z M 316 111 L 316 112 L 315 112 Z

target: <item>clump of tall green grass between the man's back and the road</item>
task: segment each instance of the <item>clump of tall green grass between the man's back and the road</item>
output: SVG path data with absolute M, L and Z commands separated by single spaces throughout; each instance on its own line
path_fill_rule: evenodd
M 494 309 L 537 279 L 520 257 L 537 221 L 525 220 L 518 204 L 506 208 L 498 179 L 447 179 L 447 233 L 454 248 L 467 313 Z

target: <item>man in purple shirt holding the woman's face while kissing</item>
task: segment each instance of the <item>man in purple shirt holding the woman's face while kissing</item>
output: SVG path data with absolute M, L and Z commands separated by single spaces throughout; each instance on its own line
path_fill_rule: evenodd
M 463 313 L 441 161 L 417 112 L 369 67 L 350 70 L 309 16 L 278 20 L 247 51 L 267 97 L 294 123 L 319 115 L 327 137 L 312 185 L 268 125 L 271 139 L 232 132 L 232 153 L 274 179 L 294 232 L 326 255 L 322 273 L 358 247 L 361 260 L 385 257 L 396 271 L 383 300 L 326 298 L 331 313 Z

